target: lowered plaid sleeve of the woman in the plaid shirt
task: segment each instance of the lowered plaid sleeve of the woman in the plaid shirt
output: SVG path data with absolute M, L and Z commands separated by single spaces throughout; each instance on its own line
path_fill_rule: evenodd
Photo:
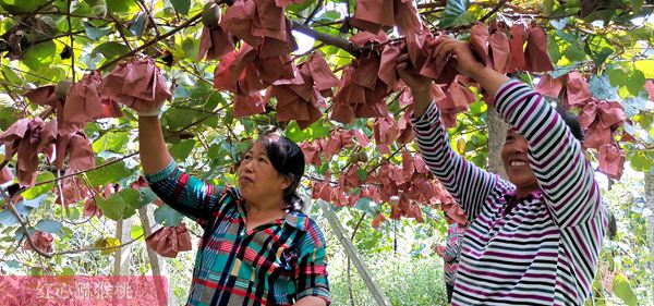
M 325 258 L 325 237 L 318 225 L 307 219 L 305 235 L 300 241 L 300 258 L 298 262 L 298 299 L 316 296 L 331 303 L 327 266 Z

